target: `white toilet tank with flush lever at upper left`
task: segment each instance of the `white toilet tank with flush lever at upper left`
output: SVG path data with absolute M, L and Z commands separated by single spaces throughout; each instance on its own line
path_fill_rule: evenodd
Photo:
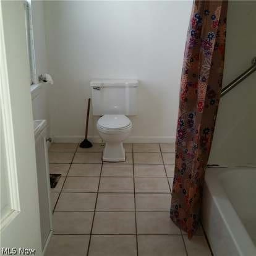
M 138 80 L 133 79 L 91 80 L 93 115 L 136 115 L 138 85 Z

